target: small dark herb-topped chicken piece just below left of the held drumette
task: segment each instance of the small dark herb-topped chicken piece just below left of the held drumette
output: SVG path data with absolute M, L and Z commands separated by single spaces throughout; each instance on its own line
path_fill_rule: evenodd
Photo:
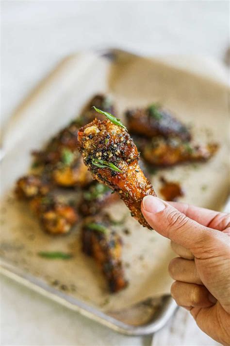
M 84 215 L 95 215 L 101 208 L 118 199 L 118 194 L 97 181 L 93 181 L 87 189 L 82 191 L 82 200 L 79 204 L 79 212 Z

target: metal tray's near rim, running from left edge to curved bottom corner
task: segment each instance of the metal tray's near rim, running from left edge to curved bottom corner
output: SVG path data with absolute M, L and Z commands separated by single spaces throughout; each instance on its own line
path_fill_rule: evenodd
M 107 315 L 105 312 L 102 312 L 87 303 L 84 303 L 78 298 L 71 297 L 64 292 L 53 288 L 45 281 L 36 278 L 32 274 L 26 273 L 24 270 L 9 264 L 3 259 L 0 259 L 0 273 L 70 310 L 77 311 L 83 316 L 88 317 L 105 327 L 126 335 L 141 336 L 156 332 L 165 325 L 178 307 L 174 299 L 170 295 L 166 295 L 164 296 L 164 305 L 158 314 L 158 318 L 155 318 L 153 321 L 148 322 L 145 325 L 138 327 L 131 326 Z

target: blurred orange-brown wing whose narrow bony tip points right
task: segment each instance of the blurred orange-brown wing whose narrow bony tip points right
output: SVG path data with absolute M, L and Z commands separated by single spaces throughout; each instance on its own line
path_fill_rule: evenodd
M 143 147 L 142 155 L 148 164 L 166 167 L 184 162 L 207 161 L 217 149 L 215 143 L 199 146 L 175 137 L 155 137 Z

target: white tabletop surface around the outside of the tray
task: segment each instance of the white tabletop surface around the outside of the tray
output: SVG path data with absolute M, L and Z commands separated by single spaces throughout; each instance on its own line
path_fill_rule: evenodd
M 123 47 L 221 61 L 229 44 L 228 11 L 228 1 L 2 1 L 2 121 L 55 63 L 82 49 Z M 10 279 L 0 282 L 3 346 L 216 345 L 187 311 L 179 310 L 152 341 L 116 334 Z

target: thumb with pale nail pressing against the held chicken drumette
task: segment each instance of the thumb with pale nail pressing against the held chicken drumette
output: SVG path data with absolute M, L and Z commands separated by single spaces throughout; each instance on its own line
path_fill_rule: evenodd
M 189 219 L 157 197 L 145 196 L 142 200 L 141 211 L 153 229 L 162 236 L 189 249 L 195 256 L 205 249 L 210 249 L 214 236 L 218 236 L 218 231 Z

